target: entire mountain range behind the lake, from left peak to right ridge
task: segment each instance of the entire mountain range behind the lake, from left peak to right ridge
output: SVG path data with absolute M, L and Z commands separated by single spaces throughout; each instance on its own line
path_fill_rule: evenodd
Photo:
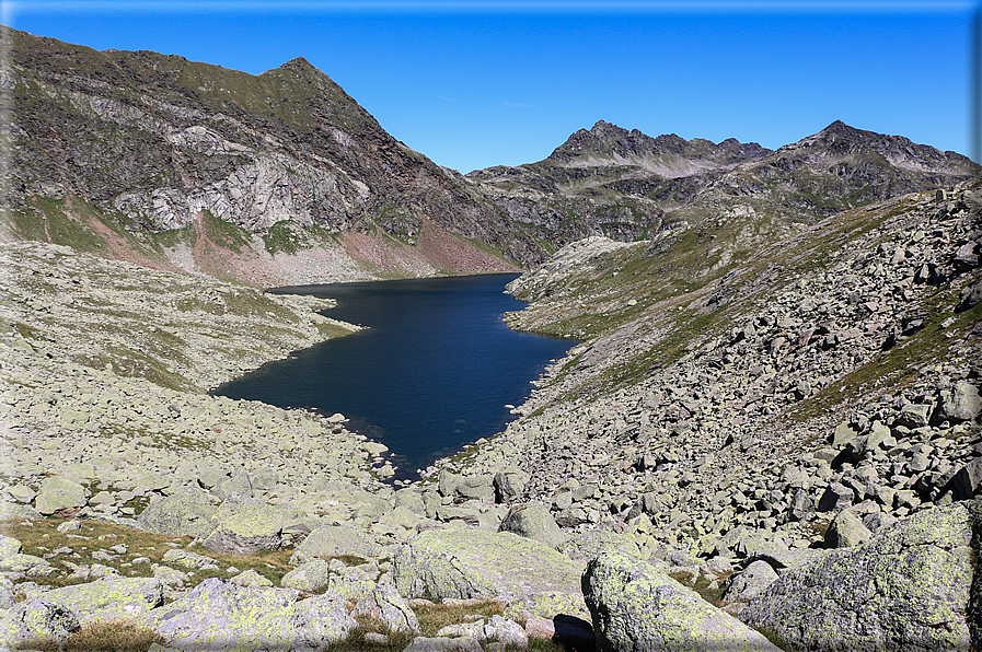
M 5 238 L 259 284 L 516 270 L 588 235 L 698 228 L 728 242 L 727 222 L 743 224 L 736 255 L 980 174 L 960 154 L 839 121 L 771 151 L 601 120 L 544 161 L 463 176 L 302 58 L 251 75 L 0 36 L 14 116 Z

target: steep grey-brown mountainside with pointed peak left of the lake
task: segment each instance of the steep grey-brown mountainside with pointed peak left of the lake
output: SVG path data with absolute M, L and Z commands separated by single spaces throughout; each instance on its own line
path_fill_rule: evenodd
M 471 184 L 302 58 L 251 75 L 0 36 L 15 117 L 8 238 L 266 284 L 542 258 Z

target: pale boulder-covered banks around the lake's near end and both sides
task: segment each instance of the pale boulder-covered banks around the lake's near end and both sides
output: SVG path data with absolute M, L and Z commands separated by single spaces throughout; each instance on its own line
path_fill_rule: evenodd
M 908 195 L 658 301 L 564 286 L 624 279 L 651 243 L 567 247 L 516 282 L 552 291 L 512 325 L 636 316 L 398 488 L 340 415 L 207 394 L 350 333 L 330 303 L 4 244 L 0 629 L 15 645 L 126 619 L 184 650 L 978 648 L 980 214 L 978 184 Z M 432 603 L 464 609 L 420 625 Z

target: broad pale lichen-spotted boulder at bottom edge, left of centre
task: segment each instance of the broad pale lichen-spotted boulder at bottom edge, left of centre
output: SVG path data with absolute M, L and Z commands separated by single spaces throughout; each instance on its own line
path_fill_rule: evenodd
M 194 651 L 321 649 L 357 626 L 339 597 L 298 602 L 298 595 L 211 578 L 132 622 L 157 631 L 170 648 Z

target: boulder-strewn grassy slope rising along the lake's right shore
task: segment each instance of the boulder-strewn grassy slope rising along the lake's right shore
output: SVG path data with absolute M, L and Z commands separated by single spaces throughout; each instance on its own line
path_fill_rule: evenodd
M 518 461 L 561 523 L 647 514 L 651 545 L 708 555 L 973 496 L 980 188 L 840 213 L 689 289 L 650 243 L 570 245 L 512 283 L 533 304 L 508 321 L 587 341 L 467 464 Z

